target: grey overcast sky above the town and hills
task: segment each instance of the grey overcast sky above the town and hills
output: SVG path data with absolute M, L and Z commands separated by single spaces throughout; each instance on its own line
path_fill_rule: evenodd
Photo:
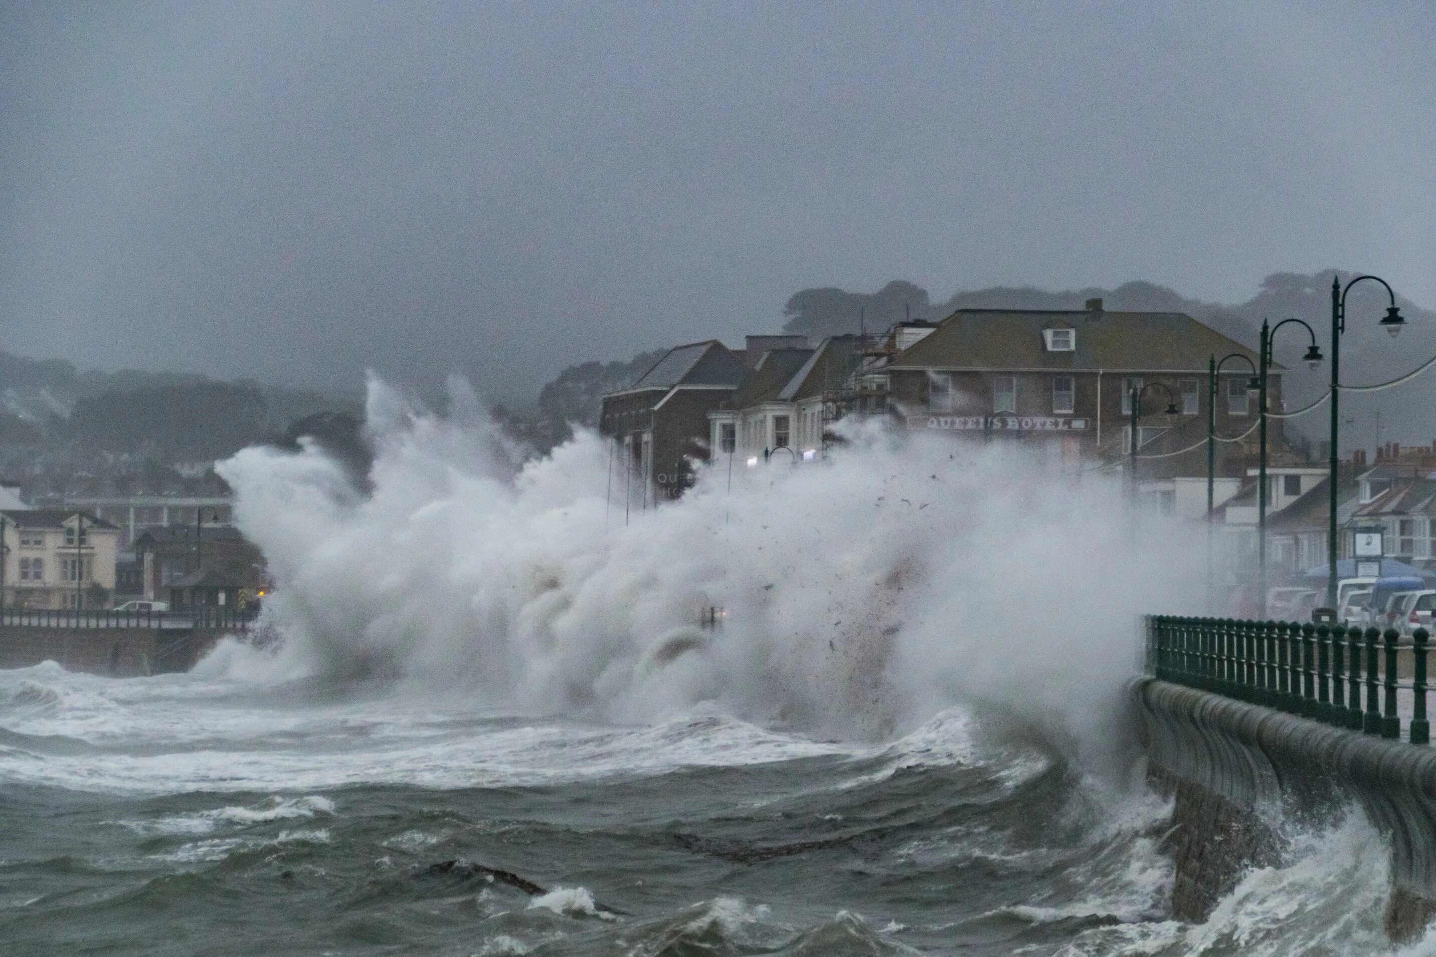
M 1426 3 L 7 3 L 0 349 L 521 402 L 810 286 L 1433 306 L 1433 159 Z

